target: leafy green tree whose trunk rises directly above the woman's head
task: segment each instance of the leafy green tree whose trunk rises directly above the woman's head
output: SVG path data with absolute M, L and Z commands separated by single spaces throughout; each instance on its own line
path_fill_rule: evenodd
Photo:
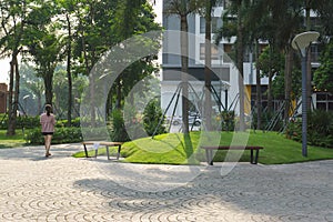
M 58 63 L 62 60 L 62 42 L 59 23 L 52 21 L 58 13 L 53 1 L 36 2 L 27 18 L 30 24 L 24 32 L 24 44 L 36 64 L 37 75 L 44 81 L 46 103 L 52 104 L 52 79 Z

